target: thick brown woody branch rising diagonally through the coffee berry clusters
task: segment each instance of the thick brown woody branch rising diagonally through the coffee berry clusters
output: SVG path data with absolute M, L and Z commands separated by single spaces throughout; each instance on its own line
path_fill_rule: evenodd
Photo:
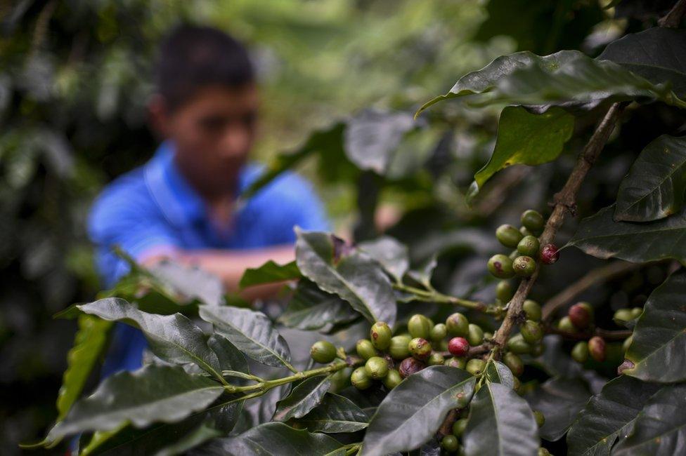
M 610 106 L 602 121 L 600 121 L 600 124 L 598 124 L 595 129 L 595 132 L 593 132 L 593 136 L 591 136 L 590 140 L 588 140 L 588 143 L 583 148 L 583 151 L 579 154 L 576 165 L 574 165 L 574 169 L 571 171 L 564 187 L 562 187 L 562 190 L 559 193 L 555 194 L 555 206 L 552 209 L 552 214 L 548 218 L 548 222 L 545 224 L 543 234 L 541 234 L 541 246 L 552 243 L 553 239 L 555 239 L 555 234 L 557 234 L 557 230 L 562 226 L 562 222 L 564 222 L 564 217 L 567 215 L 567 212 L 572 213 L 572 215 L 576 213 L 576 194 L 581 188 L 581 183 L 588 173 L 588 170 L 590 170 L 590 167 L 597 159 L 598 154 L 600 154 L 610 133 L 612 133 L 614 125 L 617 119 L 619 119 L 624 106 L 625 104 L 623 103 L 614 103 Z M 522 312 L 522 304 L 524 304 L 524 300 L 526 300 L 526 297 L 529 295 L 533 284 L 536 283 L 539 271 L 540 265 L 529 279 L 522 279 L 519 283 L 519 288 L 517 288 L 517 292 L 514 293 L 514 297 L 512 297 L 512 300 L 507 304 L 507 315 L 503 319 L 503 323 L 500 324 L 498 331 L 496 331 L 496 335 L 493 337 L 493 343 L 495 344 L 495 347 L 493 347 L 494 352 L 505 346 L 507 337 L 512 331 L 512 326 L 514 326 L 517 316 Z

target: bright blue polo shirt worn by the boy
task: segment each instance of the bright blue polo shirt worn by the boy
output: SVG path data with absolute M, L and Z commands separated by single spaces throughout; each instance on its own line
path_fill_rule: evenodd
M 244 166 L 238 194 L 260 173 L 259 166 Z M 96 246 L 98 271 L 105 286 L 111 287 L 128 271 L 112 246 L 138 261 L 174 249 L 278 246 L 295 242 L 296 225 L 328 229 L 323 205 L 309 182 L 284 173 L 236 211 L 230 228 L 219 229 L 209 219 L 205 201 L 176 168 L 174 147 L 164 143 L 148 163 L 105 187 L 91 210 L 88 231 Z M 103 375 L 139 368 L 144 348 L 140 331 L 118 325 Z

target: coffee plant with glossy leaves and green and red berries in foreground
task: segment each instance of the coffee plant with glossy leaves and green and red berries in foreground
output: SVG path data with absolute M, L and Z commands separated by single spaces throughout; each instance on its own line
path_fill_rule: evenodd
M 79 331 L 58 420 L 37 446 L 71 442 L 84 455 L 686 452 L 686 2 L 667 10 L 597 58 L 503 55 L 416 120 L 369 109 L 278 156 L 242 199 L 309 156 L 323 176 L 355 182 L 359 206 L 354 242 L 296 229 L 295 262 L 245 272 L 242 288 L 289 281 L 283 311 L 251 307 L 198 269 L 129 259 L 115 288 L 58 314 Z M 372 215 L 384 192 L 456 199 L 446 193 L 449 133 L 494 109 L 492 154 L 465 197 L 480 217 L 499 209 L 499 226 L 481 236 L 462 224 L 422 243 L 450 216 L 424 208 L 378 236 Z M 636 143 L 630 164 L 621 152 Z M 563 152 L 577 147 L 565 165 Z M 609 167 L 594 169 L 604 149 L 628 160 L 618 188 L 607 185 Z M 527 180 L 516 164 L 540 167 Z M 531 196 L 546 172 L 554 192 Z M 456 249 L 476 261 L 455 269 L 459 286 L 447 290 L 439 284 Z M 115 322 L 143 331 L 145 365 L 82 397 Z

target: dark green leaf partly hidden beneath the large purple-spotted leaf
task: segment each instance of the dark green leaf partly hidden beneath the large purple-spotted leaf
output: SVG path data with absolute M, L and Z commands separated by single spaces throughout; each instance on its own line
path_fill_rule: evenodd
M 325 326 L 349 323 L 360 314 L 337 295 L 325 293 L 309 280 L 301 280 L 278 322 L 288 328 L 319 330 Z

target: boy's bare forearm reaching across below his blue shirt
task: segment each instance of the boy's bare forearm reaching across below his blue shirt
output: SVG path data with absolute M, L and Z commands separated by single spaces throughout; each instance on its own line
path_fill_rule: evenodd
M 145 257 L 141 264 L 152 266 L 166 258 L 167 255 L 153 255 Z M 292 262 L 295 260 L 295 250 L 292 244 L 245 250 L 177 250 L 174 260 L 205 269 L 219 276 L 227 290 L 237 291 L 245 269 L 260 267 L 268 260 L 278 264 Z M 281 286 L 283 283 L 254 286 L 242 290 L 240 295 L 247 300 L 271 297 L 276 295 Z

